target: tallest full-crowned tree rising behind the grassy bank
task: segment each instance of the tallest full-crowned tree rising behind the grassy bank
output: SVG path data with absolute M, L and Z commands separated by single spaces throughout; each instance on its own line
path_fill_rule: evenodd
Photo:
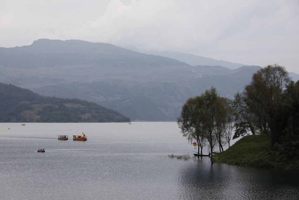
M 280 142 L 287 121 L 283 116 L 282 93 L 290 77 L 282 66 L 268 65 L 252 76 L 251 84 L 245 86 L 246 104 L 257 118 L 255 125 L 260 132 L 271 138 L 271 145 Z

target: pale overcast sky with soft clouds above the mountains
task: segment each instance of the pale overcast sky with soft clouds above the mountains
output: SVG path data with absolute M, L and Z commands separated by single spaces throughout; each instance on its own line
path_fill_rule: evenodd
M 79 39 L 299 73 L 297 0 L 0 0 L 0 47 Z

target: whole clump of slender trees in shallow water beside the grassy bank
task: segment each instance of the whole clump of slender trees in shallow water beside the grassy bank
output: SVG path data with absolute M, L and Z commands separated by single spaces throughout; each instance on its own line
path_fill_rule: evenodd
M 200 96 L 189 98 L 184 103 L 181 116 L 177 118 L 181 132 L 187 139 L 197 141 L 201 148 L 208 142 L 213 162 L 213 148 L 218 142 L 219 151 L 230 141 L 234 123 L 234 111 L 231 100 L 219 97 L 216 88 L 206 90 Z M 199 147 L 198 147 L 199 153 Z

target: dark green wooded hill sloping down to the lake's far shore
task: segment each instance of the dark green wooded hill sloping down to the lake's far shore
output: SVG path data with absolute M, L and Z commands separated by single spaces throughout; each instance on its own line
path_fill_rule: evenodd
M 129 122 L 120 113 L 79 99 L 44 97 L 0 83 L 0 122 Z

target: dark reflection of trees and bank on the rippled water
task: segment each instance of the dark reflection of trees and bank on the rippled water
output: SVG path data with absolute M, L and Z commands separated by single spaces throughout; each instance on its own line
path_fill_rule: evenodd
M 198 160 L 181 169 L 178 199 L 297 199 L 299 172 L 257 169 Z

